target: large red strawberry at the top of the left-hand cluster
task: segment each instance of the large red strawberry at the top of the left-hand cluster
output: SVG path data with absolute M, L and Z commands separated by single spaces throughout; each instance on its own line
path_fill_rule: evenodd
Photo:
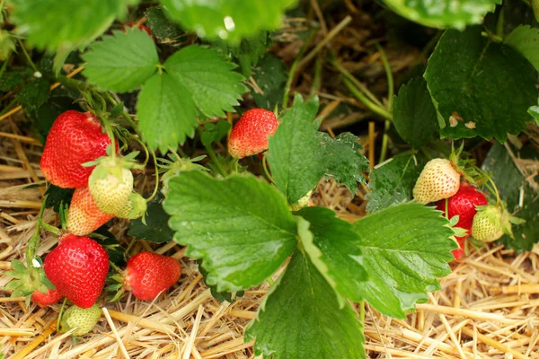
M 92 113 L 68 110 L 50 128 L 41 156 L 41 171 L 58 187 L 86 187 L 93 167 L 82 164 L 104 156 L 109 144 L 109 136 L 103 134 L 99 119 Z

